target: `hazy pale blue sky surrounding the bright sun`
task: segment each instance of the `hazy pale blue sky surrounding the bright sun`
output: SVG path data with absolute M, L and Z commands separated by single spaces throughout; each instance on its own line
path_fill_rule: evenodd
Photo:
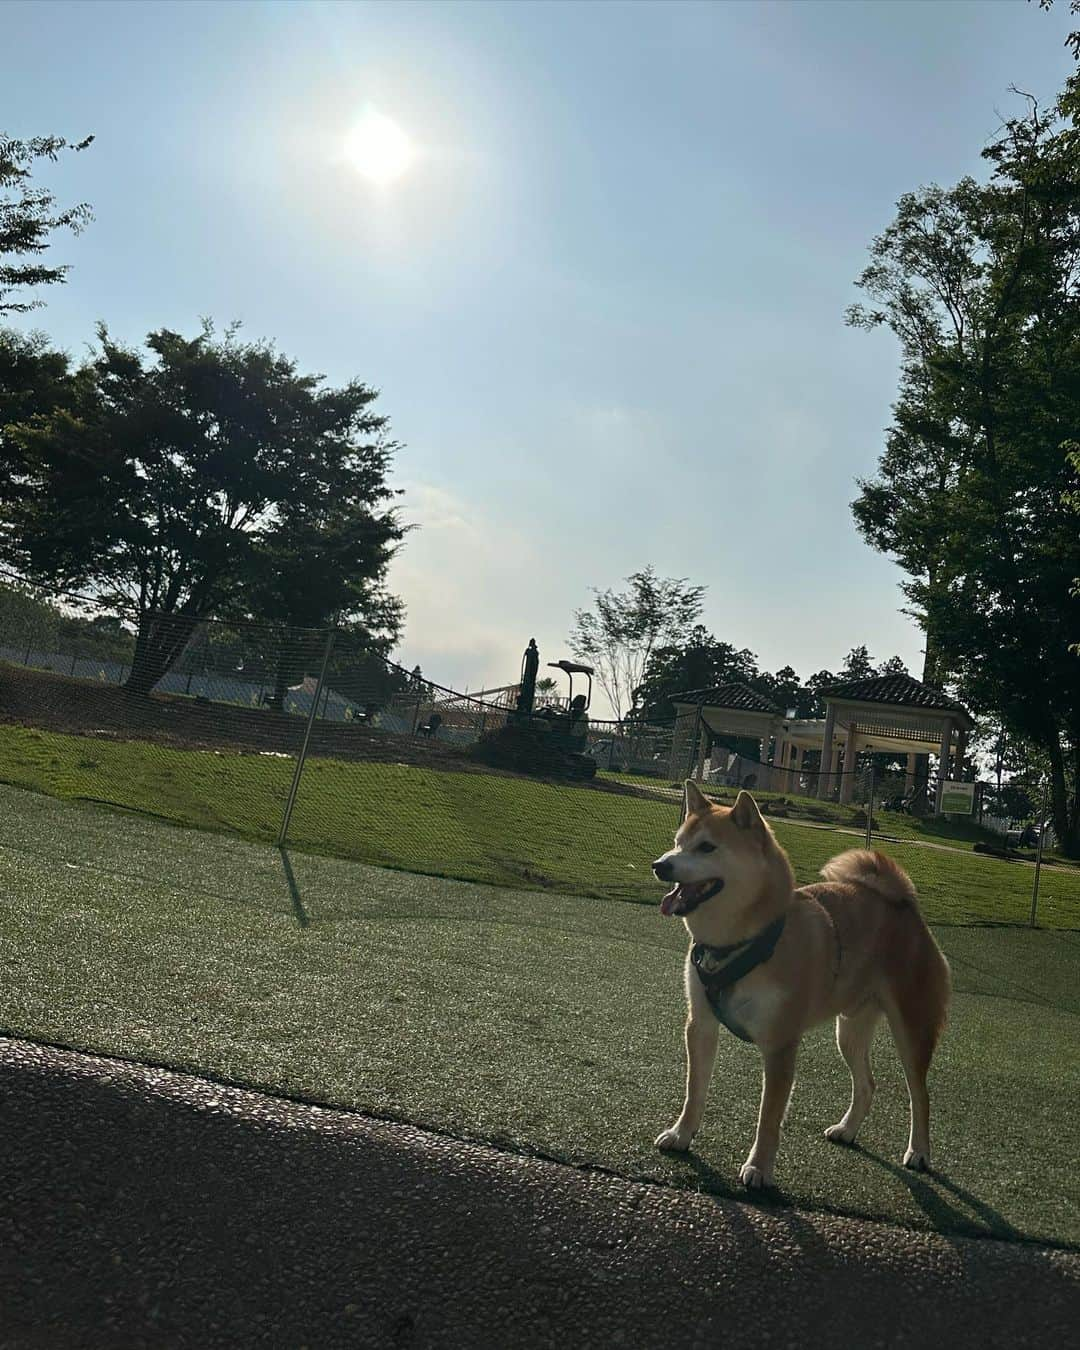
M 899 572 L 850 522 L 896 387 L 844 327 L 896 197 L 980 173 L 1072 69 L 1069 16 L 996 3 L 8 0 L 0 126 L 94 224 L 24 327 L 72 352 L 239 319 L 358 375 L 420 528 L 401 645 L 433 679 L 566 655 L 590 586 L 653 563 L 770 668 L 857 643 L 918 672 Z M 389 188 L 343 144 L 416 146 Z

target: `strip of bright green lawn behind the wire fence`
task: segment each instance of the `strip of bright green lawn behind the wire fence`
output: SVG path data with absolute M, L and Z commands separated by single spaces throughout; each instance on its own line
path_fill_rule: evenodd
M 182 825 L 274 840 L 292 761 L 0 726 L 0 780 Z M 405 764 L 308 763 L 290 842 L 409 872 L 652 905 L 649 861 L 671 801 Z M 772 818 L 801 882 L 859 840 Z M 964 850 L 882 844 L 941 923 L 1026 923 L 1033 869 Z M 1080 872 L 1044 869 L 1040 923 L 1080 927 Z

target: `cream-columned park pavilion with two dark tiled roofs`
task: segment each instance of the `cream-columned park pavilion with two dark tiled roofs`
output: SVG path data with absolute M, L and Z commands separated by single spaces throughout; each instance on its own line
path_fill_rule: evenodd
M 792 791 L 805 772 L 807 751 L 819 752 L 817 795 L 849 802 L 860 751 L 907 756 L 907 790 L 915 786 L 919 755 L 938 759 L 936 809 L 942 783 L 959 775 L 975 724 L 971 714 L 941 690 L 910 675 L 879 675 L 841 680 L 821 690 L 824 718 L 786 717 L 770 699 L 747 684 L 686 690 L 675 703 L 672 772 L 699 778 L 705 767 L 705 736 L 738 736 L 761 745 L 759 784 Z M 772 755 L 770 757 L 770 745 Z M 841 767 L 842 761 L 842 767 Z M 840 783 L 838 792 L 836 783 Z

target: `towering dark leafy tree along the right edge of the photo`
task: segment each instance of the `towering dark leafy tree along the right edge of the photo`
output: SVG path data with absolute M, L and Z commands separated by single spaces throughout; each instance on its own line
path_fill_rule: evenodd
M 961 695 L 1045 751 L 1080 853 L 1080 532 L 1065 497 L 1080 406 L 1080 85 L 1034 101 L 965 178 L 899 202 L 850 321 L 900 340 L 886 454 L 856 521 Z

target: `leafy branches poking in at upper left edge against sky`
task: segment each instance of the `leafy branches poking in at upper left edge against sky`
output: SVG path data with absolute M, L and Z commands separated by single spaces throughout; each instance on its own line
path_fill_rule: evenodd
M 63 281 L 68 267 L 45 267 L 35 259 L 45 252 L 57 230 L 78 234 L 92 219 L 85 202 L 58 211 L 55 197 L 31 182 L 34 163 L 55 161 L 63 150 L 85 150 L 86 136 L 74 144 L 62 136 L 15 140 L 0 132 L 0 315 L 36 309 L 42 300 L 19 298 L 19 290 Z

